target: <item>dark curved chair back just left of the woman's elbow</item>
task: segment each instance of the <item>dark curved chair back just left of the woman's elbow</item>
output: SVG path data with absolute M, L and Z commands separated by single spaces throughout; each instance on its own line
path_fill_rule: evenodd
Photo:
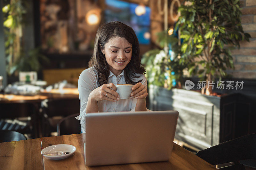
M 75 118 L 78 115 L 79 114 L 69 115 L 60 120 L 57 124 L 58 136 L 81 133 L 80 121 Z

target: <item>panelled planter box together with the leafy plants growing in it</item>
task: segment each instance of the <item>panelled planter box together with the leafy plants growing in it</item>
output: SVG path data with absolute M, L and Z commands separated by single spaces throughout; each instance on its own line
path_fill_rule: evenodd
M 181 15 L 175 30 L 179 29 L 180 45 L 178 39 L 168 38 L 166 32 L 165 38 L 160 35 L 162 43 L 168 43 L 165 39 L 169 39 L 176 44 L 172 46 L 176 49 L 176 58 L 173 59 L 176 62 L 168 62 L 165 59 L 168 54 L 165 53 L 160 62 L 154 63 L 158 61 L 156 54 L 160 54 L 160 50 L 149 51 L 143 57 L 148 82 L 154 85 L 149 87 L 149 107 L 151 110 L 178 110 L 180 115 L 175 138 L 199 150 L 206 149 L 248 133 L 248 128 L 243 125 L 248 124 L 250 112 L 244 113 L 241 120 L 238 110 L 251 103 L 240 94 L 213 96 L 191 90 L 163 88 L 167 72 L 165 67 L 180 68 L 179 78 L 182 78 L 184 70 L 210 82 L 214 77 L 223 78 L 227 75 L 225 70 L 234 67 L 230 44 L 239 47 L 239 41 L 248 41 L 250 35 L 244 33 L 241 27 L 239 0 L 189 0 L 187 5 L 181 5 L 179 11 Z M 150 57 L 151 63 L 147 60 Z M 207 94 L 211 93 L 209 88 Z M 237 104 L 242 98 L 244 105 Z

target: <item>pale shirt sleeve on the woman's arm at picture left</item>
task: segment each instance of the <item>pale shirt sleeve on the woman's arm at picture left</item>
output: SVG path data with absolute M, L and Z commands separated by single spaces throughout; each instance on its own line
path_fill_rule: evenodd
M 98 78 L 94 71 L 90 69 L 84 70 L 78 79 L 78 93 L 80 100 L 80 115 L 76 117 L 78 120 L 85 120 L 86 105 L 90 93 L 97 88 Z

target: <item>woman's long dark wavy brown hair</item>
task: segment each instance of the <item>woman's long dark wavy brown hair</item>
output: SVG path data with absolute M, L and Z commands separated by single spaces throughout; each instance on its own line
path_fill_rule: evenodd
M 123 37 L 130 44 L 132 44 L 132 58 L 131 61 L 124 68 L 124 78 L 127 84 L 135 85 L 141 82 L 134 81 L 134 78 L 139 78 L 136 73 L 145 74 L 146 70 L 141 65 L 140 47 L 138 38 L 134 30 L 126 24 L 114 21 L 101 25 L 96 33 L 94 41 L 94 50 L 92 58 L 89 62 L 89 67 L 94 66 L 98 72 L 98 82 L 100 85 L 108 82 L 109 66 L 105 55 L 102 54 L 101 49 L 105 48 L 105 44 L 114 37 Z

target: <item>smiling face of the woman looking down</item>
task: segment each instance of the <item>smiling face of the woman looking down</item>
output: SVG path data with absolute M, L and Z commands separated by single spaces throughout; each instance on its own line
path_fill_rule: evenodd
M 116 76 L 122 73 L 132 58 L 132 45 L 123 37 L 110 39 L 101 51 L 105 54 L 110 71 Z

